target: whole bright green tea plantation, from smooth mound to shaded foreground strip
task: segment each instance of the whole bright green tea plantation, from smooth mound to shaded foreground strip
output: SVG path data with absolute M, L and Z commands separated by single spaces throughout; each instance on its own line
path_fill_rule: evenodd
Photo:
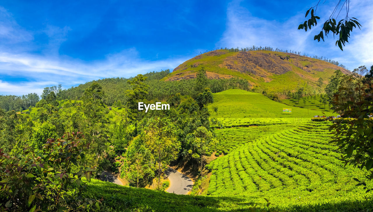
M 216 155 L 223 156 L 206 165 L 203 195 L 98 180 L 86 195 L 103 197 L 104 211 L 373 211 L 373 193 L 353 180 L 365 180 L 366 172 L 344 167 L 329 143 L 329 122 L 312 122 L 313 113 L 303 108 L 282 114 L 289 106 L 247 91 L 220 92 L 214 100 L 209 110 L 220 121 Z

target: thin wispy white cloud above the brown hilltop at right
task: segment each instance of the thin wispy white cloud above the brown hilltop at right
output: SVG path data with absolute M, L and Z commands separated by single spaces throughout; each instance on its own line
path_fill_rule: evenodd
M 255 17 L 250 13 L 250 8 L 242 7 L 240 3 L 241 1 L 229 3 L 226 12 L 226 31 L 216 47 L 271 46 L 301 51 L 310 56 L 332 58 L 350 69 L 360 65 L 370 67 L 373 64 L 373 4 L 369 1 L 354 1 L 350 4 L 349 15 L 359 18 L 363 28 L 353 30 L 350 44 L 344 47 L 343 52 L 335 46 L 335 39 L 332 36 L 326 38 L 325 42 L 313 41 L 313 36 L 322 28 L 322 21 L 319 21 L 321 23 L 316 28 L 307 32 L 297 29 L 301 21 L 305 20 L 305 11 L 280 22 Z M 319 6 L 317 14 L 321 14 L 319 16 L 322 20 L 329 17 L 335 6 L 333 4 Z

